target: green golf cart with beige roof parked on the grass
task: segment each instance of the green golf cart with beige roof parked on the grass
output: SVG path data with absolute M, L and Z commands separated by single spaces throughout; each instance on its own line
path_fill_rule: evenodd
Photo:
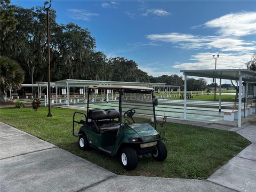
M 118 91 L 118 110 L 89 109 L 90 94 L 94 90 Z M 122 95 L 150 95 L 152 100 L 149 103 L 153 110 L 151 122 L 156 128 L 157 99 L 154 98 L 153 91 L 152 88 L 140 86 L 90 85 L 87 93 L 87 115 L 79 112 L 73 115 L 73 135 L 79 137 L 79 148 L 94 148 L 111 156 L 118 155 L 126 170 L 137 167 L 138 155 L 151 154 L 156 161 L 164 161 L 167 150 L 159 133 L 148 123 L 136 123 L 133 118 L 134 109 L 129 109 L 122 115 Z M 82 114 L 84 119 L 77 121 L 77 114 Z M 75 132 L 75 123 L 82 124 L 78 133 Z

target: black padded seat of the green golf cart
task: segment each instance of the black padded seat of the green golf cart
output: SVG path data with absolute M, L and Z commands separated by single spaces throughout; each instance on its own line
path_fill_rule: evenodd
M 88 113 L 88 118 L 95 125 L 99 133 L 118 130 L 120 124 L 115 122 L 114 119 L 119 117 L 119 111 L 115 109 L 92 109 Z

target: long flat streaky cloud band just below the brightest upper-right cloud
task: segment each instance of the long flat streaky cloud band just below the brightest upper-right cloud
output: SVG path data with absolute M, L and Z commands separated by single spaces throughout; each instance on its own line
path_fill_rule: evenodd
M 221 36 L 197 36 L 190 34 L 169 33 L 146 35 L 151 41 L 173 43 L 181 49 L 219 49 L 220 51 L 253 51 L 255 41 L 244 41 L 237 38 Z

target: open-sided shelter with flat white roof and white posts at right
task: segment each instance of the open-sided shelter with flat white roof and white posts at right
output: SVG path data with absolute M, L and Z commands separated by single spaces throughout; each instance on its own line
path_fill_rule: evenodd
M 184 94 L 187 94 L 187 76 L 217 78 L 220 79 L 220 97 L 219 97 L 219 110 L 221 110 L 221 79 L 238 81 L 239 85 L 239 99 L 238 99 L 238 127 L 241 127 L 242 122 L 242 81 L 246 83 L 245 86 L 245 99 L 246 87 L 248 83 L 256 82 L 256 71 L 248 69 L 207 69 L 207 70 L 180 70 L 184 75 Z M 247 89 L 248 90 L 248 89 Z M 254 97 L 256 87 L 254 85 Z M 184 117 L 187 119 L 187 97 L 184 97 Z

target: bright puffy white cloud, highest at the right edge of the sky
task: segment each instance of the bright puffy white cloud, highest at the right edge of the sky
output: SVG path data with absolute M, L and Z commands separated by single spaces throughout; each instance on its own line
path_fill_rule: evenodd
M 223 36 L 256 34 L 256 12 L 230 13 L 204 23 L 207 28 L 219 28 Z

